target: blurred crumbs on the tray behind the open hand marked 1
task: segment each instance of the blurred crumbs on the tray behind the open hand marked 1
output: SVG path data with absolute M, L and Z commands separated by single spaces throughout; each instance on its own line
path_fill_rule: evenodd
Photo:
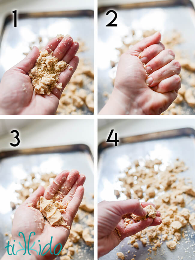
M 63 35 L 59 35 L 58 37 L 63 37 Z M 79 50 L 77 54 L 85 53 L 88 50 L 85 42 L 81 39 L 78 39 L 78 41 Z M 32 50 L 35 44 L 39 49 L 44 47 L 41 36 L 36 41 L 29 43 L 30 50 Z M 27 55 L 28 53 L 23 54 Z M 79 58 L 78 67 L 61 94 L 56 114 L 82 115 L 94 113 L 94 69 L 88 60 L 89 58 L 87 57 L 85 59 Z M 71 69 L 70 66 L 69 69 Z M 60 83 L 58 84 L 58 88 L 61 88 Z

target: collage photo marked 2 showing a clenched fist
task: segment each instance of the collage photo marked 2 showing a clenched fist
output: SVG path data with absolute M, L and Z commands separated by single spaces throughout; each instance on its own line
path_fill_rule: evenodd
M 98 113 L 195 114 L 194 1 L 98 0 Z

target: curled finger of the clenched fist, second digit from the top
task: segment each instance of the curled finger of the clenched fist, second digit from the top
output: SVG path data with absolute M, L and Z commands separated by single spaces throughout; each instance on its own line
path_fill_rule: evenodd
M 157 56 L 161 51 L 164 50 L 164 45 L 159 42 L 157 44 L 152 44 L 149 47 L 147 47 L 145 50 L 143 50 L 143 52 L 141 53 L 140 56 L 140 61 L 142 63 L 147 63 L 149 62 L 152 58 L 154 58 L 155 56 Z

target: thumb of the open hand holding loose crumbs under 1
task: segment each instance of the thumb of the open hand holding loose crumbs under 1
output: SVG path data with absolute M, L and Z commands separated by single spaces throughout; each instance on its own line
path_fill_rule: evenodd
M 13 66 L 13 69 L 19 69 L 23 74 L 29 72 L 35 65 L 35 62 L 39 56 L 39 49 L 37 47 L 33 47 L 29 54 L 24 58 L 21 62 Z

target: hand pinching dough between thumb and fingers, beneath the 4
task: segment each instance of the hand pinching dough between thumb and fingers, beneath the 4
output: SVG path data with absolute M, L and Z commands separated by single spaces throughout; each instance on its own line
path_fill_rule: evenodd
M 157 211 L 155 219 L 147 218 L 131 225 L 124 225 L 122 216 L 127 213 L 134 213 L 137 216 L 144 216 L 147 211 L 144 209 L 152 203 L 130 199 L 125 201 L 102 201 L 98 204 L 98 258 L 109 253 L 125 237 L 132 236 L 148 226 L 160 225 L 162 222 L 161 213 Z M 117 228 L 119 234 L 116 232 Z

